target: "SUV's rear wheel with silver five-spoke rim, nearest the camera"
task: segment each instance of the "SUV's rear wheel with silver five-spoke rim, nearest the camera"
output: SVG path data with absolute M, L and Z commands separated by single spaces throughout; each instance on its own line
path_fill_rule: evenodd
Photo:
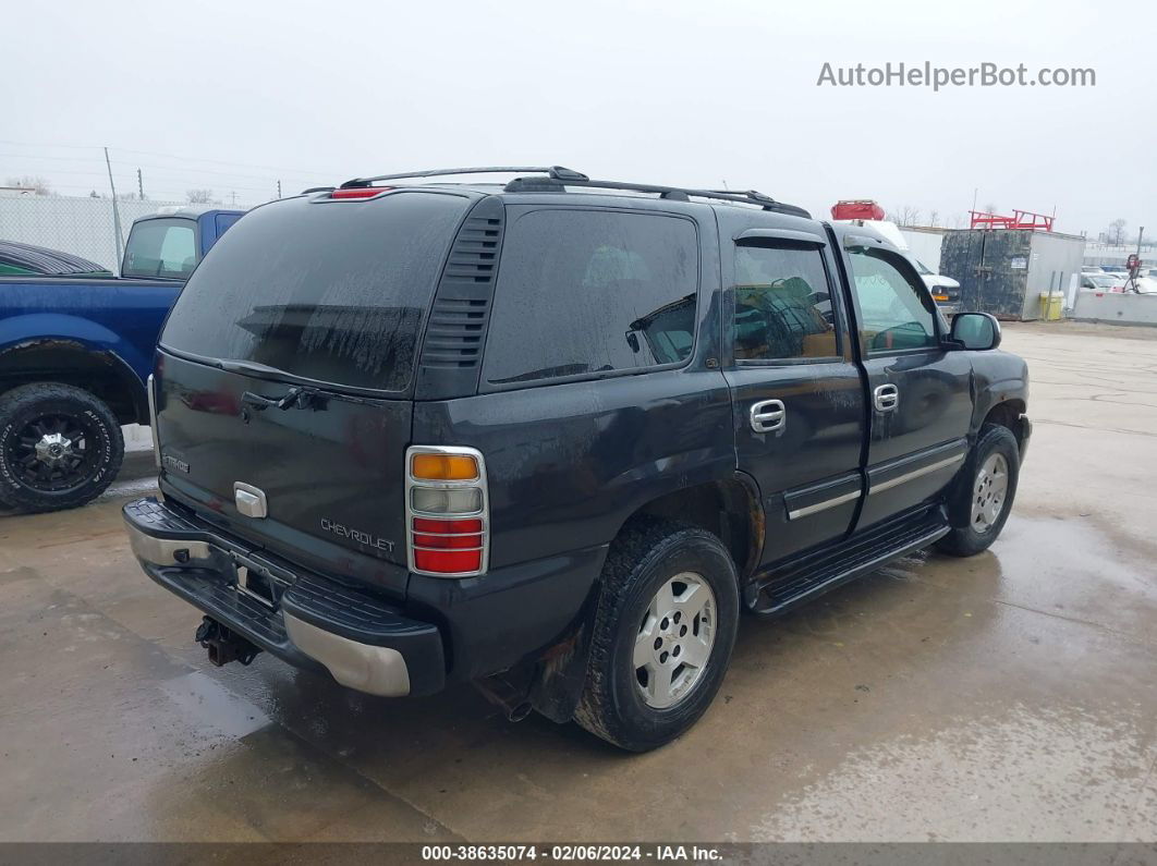
M 620 748 L 647 752 L 690 728 L 723 682 L 738 626 L 735 563 L 712 533 L 647 519 L 611 546 L 602 579 L 575 720 Z M 671 594 L 657 595 L 664 587 Z M 666 606 L 672 613 L 661 616 Z M 636 668 L 636 645 L 653 652 L 646 667 Z

